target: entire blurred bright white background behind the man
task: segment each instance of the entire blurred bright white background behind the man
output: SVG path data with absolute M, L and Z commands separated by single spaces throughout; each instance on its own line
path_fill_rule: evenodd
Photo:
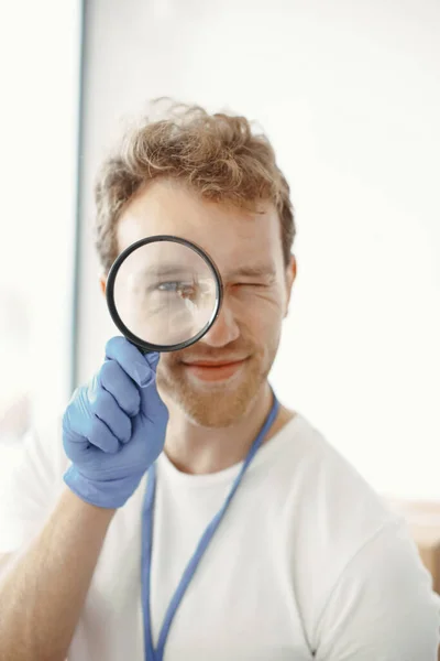
M 94 178 L 170 96 L 256 120 L 290 183 L 279 398 L 381 492 L 440 499 L 439 34 L 437 0 L 8 3 L 0 472 L 103 358 Z

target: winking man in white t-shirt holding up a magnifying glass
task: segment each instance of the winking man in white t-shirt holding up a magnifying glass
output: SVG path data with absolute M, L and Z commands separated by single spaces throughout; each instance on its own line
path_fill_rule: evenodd
M 439 604 L 405 527 L 267 381 L 296 275 L 268 141 L 199 108 L 145 121 L 96 199 L 103 291 L 120 251 L 167 234 L 209 253 L 224 299 L 185 349 L 111 339 L 63 431 L 26 440 L 0 659 L 435 661 Z

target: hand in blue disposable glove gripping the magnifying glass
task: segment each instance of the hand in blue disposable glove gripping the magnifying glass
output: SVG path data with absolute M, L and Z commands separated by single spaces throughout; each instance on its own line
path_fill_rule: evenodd
M 156 389 L 158 358 L 113 337 L 98 373 L 74 392 L 63 416 L 73 462 L 64 481 L 86 502 L 122 507 L 161 454 L 168 411 Z

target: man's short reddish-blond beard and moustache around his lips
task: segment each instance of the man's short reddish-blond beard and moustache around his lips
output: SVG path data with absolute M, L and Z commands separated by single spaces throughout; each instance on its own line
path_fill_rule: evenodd
M 197 345 L 195 345 L 197 347 Z M 248 413 L 267 380 L 276 346 L 261 348 L 233 343 L 222 349 L 189 347 L 182 351 L 163 354 L 157 367 L 157 389 L 165 403 L 177 405 L 194 424 L 206 427 L 228 427 Z M 232 378 L 209 382 L 190 378 L 184 362 L 191 360 L 221 360 L 231 356 L 245 357 Z

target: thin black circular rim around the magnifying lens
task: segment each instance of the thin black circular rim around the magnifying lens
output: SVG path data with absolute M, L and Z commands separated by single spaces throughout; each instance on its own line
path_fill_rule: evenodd
M 138 250 L 138 248 L 141 248 L 142 246 L 147 246 L 148 243 L 160 242 L 160 241 L 173 241 L 174 243 L 180 243 L 182 246 L 191 248 L 195 252 L 197 252 L 197 254 L 199 254 L 205 260 L 205 262 L 211 269 L 211 271 L 215 274 L 215 280 L 216 280 L 216 285 L 217 285 L 216 308 L 215 308 L 210 319 L 207 322 L 207 324 L 204 326 L 204 328 L 197 335 L 195 335 L 195 337 L 193 337 L 189 340 L 182 342 L 182 343 L 178 343 L 175 345 L 155 345 L 155 344 L 145 342 L 141 337 L 138 337 L 136 335 L 134 335 L 134 333 L 132 333 L 130 330 L 130 328 L 128 328 L 125 326 L 125 324 L 119 316 L 119 313 L 118 313 L 118 310 L 117 310 L 117 306 L 114 303 L 114 283 L 116 283 L 116 279 L 118 275 L 118 271 L 121 268 L 122 263 L 125 261 L 125 259 L 132 252 L 134 252 L 134 250 Z M 113 323 L 119 328 L 119 330 L 122 333 L 122 335 L 124 335 L 127 337 L 127 339 L 129 339 L 132 344 L 134 344 L 138 348 L 142 349 L 144 353 L 178 351 L 179 349 L 186 349 L 187 347 L 190 347 L 191 345 L 194 345 L 201 337 L 204 337 L 204 335 L 206 333 L 208 333 L 209 328 L 212 326 L 212 324 L 217 319 L 219 312 L 220 312 L 222 300 L 223 300 L 223 283 L 221 281 L 220 272 L 219 272 L 216 263 L 211 259 L 211 257 L 206 252 L 206 250 L 204 250 L 197 243 L 194 243 L 193 241 L 188 241 L 188 239 L 184 239 L 183 237 L 176 237 L 174 235 L 156 235 L 156 236 L 152 236 L 152 237 L 145 237 L 144 239 L 140 239 L 138 241 L 134 241 L 134 243 L 131 243 L 128 248 L 125 248 L 117 257 L 117 259 L 110 267 L 110 270 L 109 270 L 109 273 L 107 277 L 107 282 L 106 282 L 106 301 L 107 301 L 107 306 L 110 312 L 110 316 L 113 319 Z

